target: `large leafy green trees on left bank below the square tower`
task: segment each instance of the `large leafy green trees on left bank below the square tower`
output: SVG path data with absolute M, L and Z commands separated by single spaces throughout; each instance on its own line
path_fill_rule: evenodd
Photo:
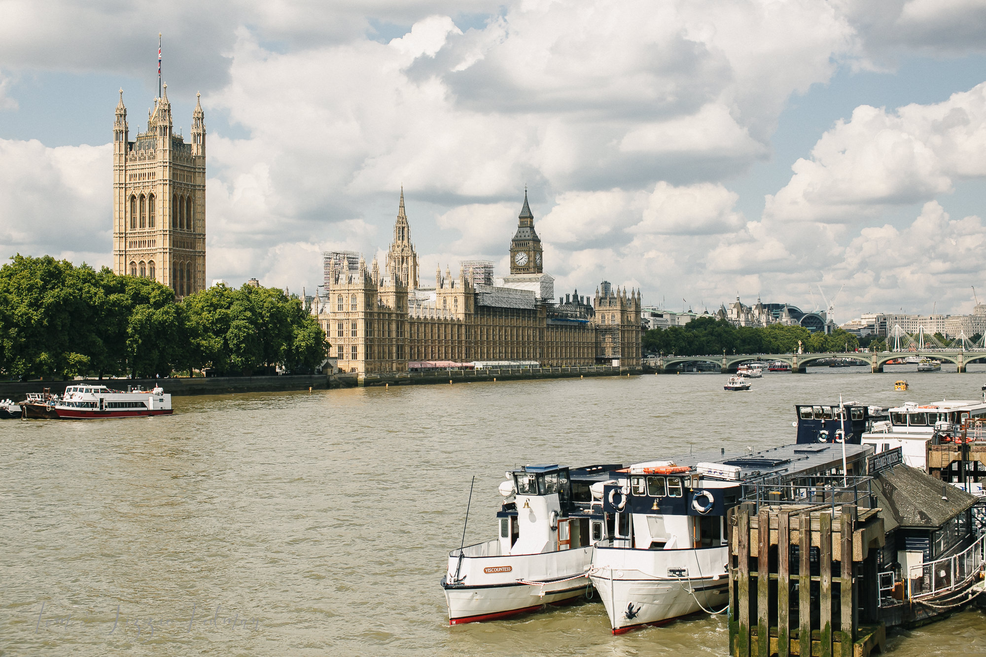
M 0 267 L 0 375 L 170 376 L 311 371 L 328 342 L 302 300 L 284 290 L 210 287 L 176 302 L 150 278 L 45 255 Z

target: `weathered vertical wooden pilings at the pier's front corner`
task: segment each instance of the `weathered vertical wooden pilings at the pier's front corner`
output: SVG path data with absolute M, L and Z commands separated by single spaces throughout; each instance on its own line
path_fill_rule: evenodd
M 783 504 L 772 507 L 765 504 L 756 514 L 751 507 L 740 505 L 728 516 L 731 655 L 867 657 L 873 648 L 881 647 L 882 626 L 868 625 L 866 631 L 861 630 L 856 611 L 860 600 L 869 599 L 868 593 L 877 582 L 865 579 L 865 574 L 861 578 L 853 576 L 869 549 L 883 543 L 878 511 L 860 510 L 847 504 L 841 509 L 836 507 L 833 513 L 830 502 L 787 508 Z M 770 556 L 775 546 L 776 565 Z M 792 546 L 799 548 L 797 564 L 791 563 Z M 812 547 L 816 548 L 818 557 L 813 577 Z M 756 559 L 753 564 L 752 558 Z M 834 573 L 833 561 L 839 562 L 839 570 Z M 792 574 L 793 567 L 798 568 L 797 575 Z M 791 628 L 793 576 L 798 583 L 798 621 L 794 630 Z M 774 579 L 776 592 L 772 586 Z M 840 611 L 838 618 L 833 618 L 836 583 L 839 591 L 834 595 L 838 596 Z M 812 584 L 816 587 L 814 601 Z M 775 605 L 776 627 L 771 625 Z M 793 639 L 795 632 L 797 638 Z

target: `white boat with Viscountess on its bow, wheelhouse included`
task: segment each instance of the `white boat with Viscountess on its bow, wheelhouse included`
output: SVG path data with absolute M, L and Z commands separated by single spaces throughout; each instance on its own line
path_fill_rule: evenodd
M 449 624 L 502 619 L 584 595 L 602 527 L 601 500 L 593 500 L 590 486 L 620 468 L 527 466 L 507 473 L 499 536 L 449 553 L 442 578 Z

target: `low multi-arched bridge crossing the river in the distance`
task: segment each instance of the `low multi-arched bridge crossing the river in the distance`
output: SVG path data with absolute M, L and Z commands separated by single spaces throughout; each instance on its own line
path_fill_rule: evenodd
M 730 374 L 736 372 L 742 363 L 782 361 L 791 365 L 792 372 L 804 374 L 805 368 L 816 361 L 846 359 L 856 360 L 860 363 L 870 365 L 872 372 L 882 372 L 883 365 L 887 362 L 907 356 L 940 360 L 943 363 L 948 361 L 955 366 L 956 372 L 964 372 L 965 366 L 969 363 L 986 362 L 986 349 L 981 351 L 970 351 L 968 349 L 919 349 L 917 351 L 882 351 L 876 353 L 846 351 L 826 353 L 724 354 L 722 356 L 652 356 L 644 358 L 643 365 L 645 368 L 654 372 L 672 373 L 680 371 L 679 368 L 684 363 L 713 363 L 720 367 L 720 371 L 723 374 Z

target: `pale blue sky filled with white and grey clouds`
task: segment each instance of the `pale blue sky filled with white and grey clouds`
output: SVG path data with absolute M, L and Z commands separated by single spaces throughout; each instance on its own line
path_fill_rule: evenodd
M 0 255 L 111 263 L 111 124 L 207 126 L 208 280 L 423 283 L 508 250 L 556 296 L 966 314 L 986 298 L 986 0 L 0 0 Z

